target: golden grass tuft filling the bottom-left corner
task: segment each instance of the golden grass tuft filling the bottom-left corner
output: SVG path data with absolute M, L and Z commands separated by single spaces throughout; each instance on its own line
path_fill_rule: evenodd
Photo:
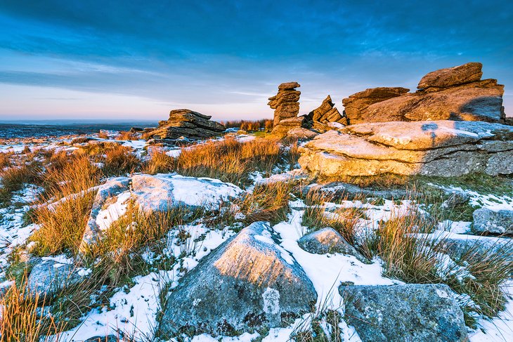
M 26 279 L 26 277 L 25 277 Z M 39 294 L 30 294 L 26 280 L 13 284 L 0 299 L 0 341 L 2 342 L 41 342 L 50 341 L 50 335 L 63 331 L 38 307 L 45 305 L 45 298 Z M 43 337 L 41 337 L 43 336 Z M 59 341 L 58 336 L 52 341 Z

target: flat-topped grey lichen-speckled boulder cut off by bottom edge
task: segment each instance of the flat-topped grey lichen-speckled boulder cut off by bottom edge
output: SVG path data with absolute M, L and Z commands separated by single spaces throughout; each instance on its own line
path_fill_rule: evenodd
M 363 342 L 468 341 L 463 313 L 445 284 L 340 287 L 345 320 Z

